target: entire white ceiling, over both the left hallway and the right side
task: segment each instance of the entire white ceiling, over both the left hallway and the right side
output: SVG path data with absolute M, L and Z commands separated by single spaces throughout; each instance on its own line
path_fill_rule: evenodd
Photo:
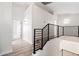
M 30 4 L 33 2 L 14 2 L 12 3 L 12 15 L 13 19 L 22 20 L 24 12 Z M 79 13 L 79 2 L 53 2 L 48 5 L 43 5 L 40 2 L 36 2 L 36 5 L 47 10 L 50 13 L 56 14 L 72 14 Z

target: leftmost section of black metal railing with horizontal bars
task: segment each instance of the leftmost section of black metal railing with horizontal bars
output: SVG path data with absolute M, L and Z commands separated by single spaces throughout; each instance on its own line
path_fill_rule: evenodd
M 34 45 L 33 45 L 34 54 L 36 53 L 35 51 L 41 49 L 41 47 L 39 47 L 39 46 L 41 46 L 41 39 L 42 39 L 42 29 L 34 29 Z

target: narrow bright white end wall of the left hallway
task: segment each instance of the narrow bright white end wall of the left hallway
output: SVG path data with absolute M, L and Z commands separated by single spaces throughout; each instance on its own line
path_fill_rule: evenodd
M 21 39 L 21 21 L 13 20 L 13 40 Z

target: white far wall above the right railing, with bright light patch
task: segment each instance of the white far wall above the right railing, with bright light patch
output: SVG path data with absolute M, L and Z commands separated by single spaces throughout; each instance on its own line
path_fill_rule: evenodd
M 57 24 L 61 26 L 78 26 L 79 14 L 59 14 L 57 16 Z

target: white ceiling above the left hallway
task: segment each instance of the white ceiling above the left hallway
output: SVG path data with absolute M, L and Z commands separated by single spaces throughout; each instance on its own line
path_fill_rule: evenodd
M 26 2 L 13 2 L 12 3 L 12 15 L 13 15 L 13 20 L 22 20 L 24 19 L 24 13 L 28 6 L 31 3 L 26 3 Z

